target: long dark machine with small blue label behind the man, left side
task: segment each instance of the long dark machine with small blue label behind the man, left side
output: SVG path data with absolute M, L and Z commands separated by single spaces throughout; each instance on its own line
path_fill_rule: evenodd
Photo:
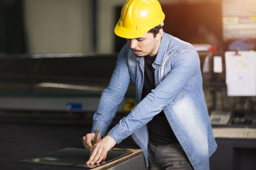
M 14 114 L 21 119 L 24 115 L 36 115 L 52 121 L 52 115 L 68 114 L 91 120 L 116 58 L 115 54 L 83 53 L 1 56 L 1 115 L 8 118 Z M 133 95 L 134 87 L 130 85 L 117 117 L 134 106 Z

